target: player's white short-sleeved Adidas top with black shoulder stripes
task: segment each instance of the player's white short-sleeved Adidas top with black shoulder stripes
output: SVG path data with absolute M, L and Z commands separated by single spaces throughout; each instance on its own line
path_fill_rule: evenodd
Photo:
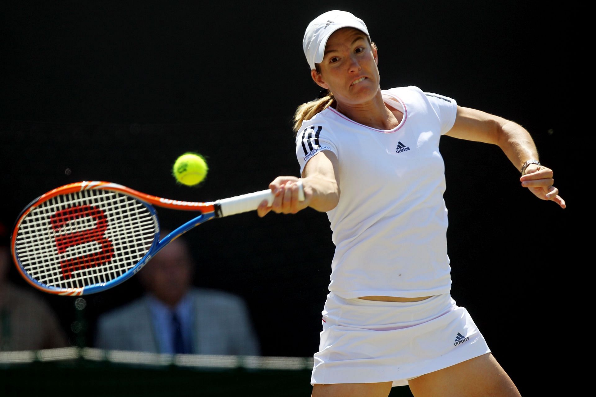
M 394 129 L 367 127 L 327 108 L 296 135 L 300 173 L 320 151 L 339 160 L 339 203 L 327 212 L 336 245 L 329 290 L 343 298 L 448 293 L 439 137 L 453 126 L 457 104 L 414 86 L 381 92 L 403 112 Z

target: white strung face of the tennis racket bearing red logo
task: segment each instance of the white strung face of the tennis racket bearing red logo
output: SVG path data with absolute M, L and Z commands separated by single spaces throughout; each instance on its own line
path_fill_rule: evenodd
M 110 282 L 153 243 L 157 221 L 144 203 L 111 190 L 58 195 L 23 220 L 15 253 L 32 279 L 58 289 Z

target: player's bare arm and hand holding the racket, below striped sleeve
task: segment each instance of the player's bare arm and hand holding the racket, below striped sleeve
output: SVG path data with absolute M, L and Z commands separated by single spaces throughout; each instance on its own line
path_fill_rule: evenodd
M 331 151 L 321 151 L 314 155 L 302 171 L 302 185 L 305 200 L 298 200 L 298 178 L 294 176 L 279 176 L 269 184 L 275 199 L 271 207 L 263 201 L 257 212 L 260 217 L 269 211 L 278 214 L 296 214 L 306 207 L 317 211 L 331 211 L 339 202 L 339 168 L 337 157 Z

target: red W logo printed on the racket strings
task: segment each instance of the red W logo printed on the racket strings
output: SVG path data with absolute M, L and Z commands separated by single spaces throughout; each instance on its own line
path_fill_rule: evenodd
M 111 260 L 114 255 L 114 249 L 110 240 L 105 238 L 105 229 L 108 227 L 107 217 L 100 208 L 91 205 L 77 205 L 64 210 L 57 211 L 50 218 L 52 229 L 58 231 L 67 223 L 78 218 L 91 217 L 95 220 L 95 227 L 92 229 L 81 230 L 80 232 L 68 233 L 54 237 L 58 254 L 64 254 L 67 249 L 85 243 L 95 242 L 101 246 L 101 251 L 85 254 L 80 257 L 64 259 L 60 261 L 63 279 L 72 277 L 72 272 L 76 270 L 88 269 L 103 265 Z

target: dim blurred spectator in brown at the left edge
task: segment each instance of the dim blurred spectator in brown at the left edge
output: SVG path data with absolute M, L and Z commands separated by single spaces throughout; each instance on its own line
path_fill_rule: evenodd
M 11 265 L 8 230 L 0 223 L 0 351 L 69 346 L 54 311 L 33 287 L 21 288 L 8 280 Z

